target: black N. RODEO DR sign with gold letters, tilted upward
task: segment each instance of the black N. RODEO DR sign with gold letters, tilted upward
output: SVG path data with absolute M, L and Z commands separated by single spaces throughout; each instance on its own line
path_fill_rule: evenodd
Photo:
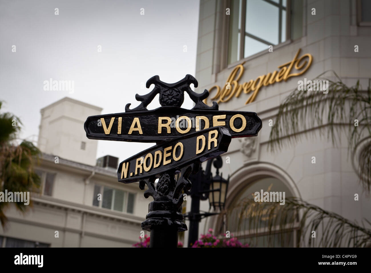
M 224 127 L 212 127 L 153 146 L 120 163 L 119 182 L 132 183 L 227 152 L 231 136 Z

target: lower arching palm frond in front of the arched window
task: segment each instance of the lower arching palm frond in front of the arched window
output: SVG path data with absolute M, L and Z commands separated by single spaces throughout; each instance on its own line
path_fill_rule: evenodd
M 365 247 L 371 242 L 369 221 L 365 228 L 300 198 L 286 198 L 284 205 L 245 198 L 228 213 L 232 211 L 239 215 L 240 236 L 265 234 L 268 246 L 289 246 L 294 232 L 297 247 Z

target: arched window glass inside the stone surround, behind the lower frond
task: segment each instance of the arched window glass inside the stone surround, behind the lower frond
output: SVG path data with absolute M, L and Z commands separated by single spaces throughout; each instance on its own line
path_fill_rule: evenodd
M 294 223 L 294 228 L 288 227 L 285 232 L 277 233 L 277 235 L 274 235 L 273 241 L 270 242 L 267 240 L 267 230 L 262 229 L 258 233 L 256 233 L 256 229 L 253 227 L 251 227 L 251 230 L 249 230 L 250 226 L 248 215 L 250 214 L 248 213 L 248 210 L 242 210 L 242 207 L 240 207 L 239 204 L 242 204 L 243 201 L 246 200 L 246 198 L 254 198 L 253 194 L 255 192 L 261 192 L 261 190 L 263 190 L 263 192 L 285 192 L 285 198 L 292 196 L 292 192 L 290 191 L 290 189 L 276 178 L 267 177 L 257 179 L 255 182 L 250 183 L 245 189 L 239 191 L 236 196 L 233 196 L 234 201 L 229 206 L 233 209 L 229 210 L 226 230 L 229 230 L 231 234 L 236 235 L 242 243 L 249 243 L 251 246 L 281 246 L 280 239 L 282 238 L 282 235 L 285 240 L 285 246 L 296 246 L 296 227 L 298 227 L 296 223 Z M 268 226 L 268 217 L 265 220 L 265 217 L 263 215 L 261 219 L 262 221 L 266 221 Z M 277 222 L 279 222 L 279 219 L 277 220 Z

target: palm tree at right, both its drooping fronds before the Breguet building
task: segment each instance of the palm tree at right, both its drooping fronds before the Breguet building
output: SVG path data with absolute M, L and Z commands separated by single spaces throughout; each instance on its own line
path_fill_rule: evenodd
M 341 130 L 345 130 L 348 137 L 348 155 L 358 150 L 359 183 L 369 194 L 371 185 L 370 81 L 367 91 L 362 91 L 359 81 L 354 86 L 348 87 L 333 71 L 335 81 L 322 78 L 326 72 L 319 75 L 316 80 L 329 81 L 328 93 L 296 89 L 280 104 L 275 124 L 270 132 L 268 150 L 276 152 L 282 147 L 295 145 L 302 137 L 300 133 L 304 132 L 306 137 L 315 134 L 316 131 L 312 129 L 319 130 L 321 136 L 327 133 L 327 139 L 331 139 L 332 144 L 336 145 Z M 298 230 L 296 246 L 365 247 L 370 246 L 371 242 L 371 223 L 367 219 L 364 219 L 368 224 L 366 228 L 364 222 L 360 225 L 349 221 L 341 215 L 325 211 L 299 198 L 286 198 L 285 205 L 280 206 L 276 202 L 255 202 L 251 196 L 248 196 L 239 204 L 229 208 L 226 213 L 234 215 L 232 221 L 238 219 L 238 230 L 257 233 L 262 228 L 267 229 L 267 241 L 270 246 L 274 246 L 275 241 L 279 241 L 280 246 L 288 246 L 289 239 L 284 234 L 292 231 L 295 223 Z M 313 231 L 316 230 L 321 230 L 320 240 L 313 240 Z

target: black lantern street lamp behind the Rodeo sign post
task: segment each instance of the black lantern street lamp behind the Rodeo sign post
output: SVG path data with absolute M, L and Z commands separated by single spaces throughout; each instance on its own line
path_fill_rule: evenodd
M 211 163 L 214 163 L 216 168 L 216 176 L 212 176 Z M 184 190 L 188 196 L 191 196 L 191 211 L 184 215 L 190 221 L 188 233 L 188 247 L 191 246 L 198 239 L 198 224 L 202 218 L 216 215 L 216 212 L 200 213 L 200 201 L 209 198 L 210 208 L 214 210 L 217 208 L 223 209 L 227 195 L 228 179 L 224 179 L 219 175 L 219 169 L 223 166 L 223 160 L 220 156 L 214 157 L 207 161 L 206 169 L 200 170 L 196 175 L 190 175 L 189 180 L 192 182 L 190 191 Z

